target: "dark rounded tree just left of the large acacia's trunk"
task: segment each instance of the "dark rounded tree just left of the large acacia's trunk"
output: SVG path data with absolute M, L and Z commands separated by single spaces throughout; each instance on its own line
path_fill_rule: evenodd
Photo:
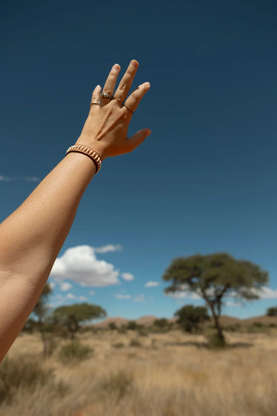
M 185 305 L 181 309 L 178 309 L 174 316 L 178 317 L 177 323 L 186 332 L 196 331 L 199 328 L 199 324 L 210 319 L 208 311 L 205 306 Z

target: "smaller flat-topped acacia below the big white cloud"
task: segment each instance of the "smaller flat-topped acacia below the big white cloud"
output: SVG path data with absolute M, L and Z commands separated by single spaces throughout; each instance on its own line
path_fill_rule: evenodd
M 88 303 L 75 303 L 74 305 L 60 306 L 53 312 L 56 321 L 61 322 L 75 338 L 80 325 L 92 319 L 101 319 L 107 316 L 106 311 L 98 305 Z

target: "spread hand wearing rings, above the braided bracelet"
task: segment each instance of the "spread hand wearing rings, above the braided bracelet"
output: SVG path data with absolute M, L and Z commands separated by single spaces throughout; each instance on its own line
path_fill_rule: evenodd
M 149 129 L 142 129 L 132 137 L 127 138 L 132 111 L 135 111 L 140 100 L 150 88 L 150 83 L 145 82 L 130 94 L 124 104 L 130 107 L 132 111 L 127 107 L 122 107 L 137 72 L 137 67 L 138 62 L 133 59 L 114 94 L 114 97 L 120 99 L 120 101 L 118 99 L 101 98 L 100 102 L 101 87 L 98 85 L 93 91 L 91 102 L 98 102 L 100 105 L 94 104 L 91 106 L 76 144 L 82 144 L 95 150 L 102 161 L 108 156 L 118 156 L 131 152 L 151 133 Z M 115 64 L 105 82 L 103 93 L 113 95 L 119 72 L 120 66 Z

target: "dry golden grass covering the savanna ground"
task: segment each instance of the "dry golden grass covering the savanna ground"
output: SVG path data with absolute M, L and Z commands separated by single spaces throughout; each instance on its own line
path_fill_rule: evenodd
M 57 399 L 45 388 L 18 393 L 1 416 L 275 416 L 277 333 L 227 333 L 230 348 L 206 349 L 201 335 L 179 331 L 140 337 L 136 333 L 84 333 L 94 349 L 89 360 L 63 366 L 58 352 L 44 362 L 71 387 Z M 116 349 L 113 344 L 125 347 Z M 63 341 L 61 342 L 63 343 Z M 37 356 L 38 335 L 21 335 L 9 352 Z

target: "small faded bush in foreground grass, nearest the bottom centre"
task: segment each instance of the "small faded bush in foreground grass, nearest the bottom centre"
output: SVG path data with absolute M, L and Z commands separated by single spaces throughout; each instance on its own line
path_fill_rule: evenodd
M 125 371 L 118 371 L 111 374 L 101 384 L 101 388 L 108 391 L 109 394 L 116 394 L 121 399 L 125 394 L 129 393 L 133 387 L 133 378 Z

